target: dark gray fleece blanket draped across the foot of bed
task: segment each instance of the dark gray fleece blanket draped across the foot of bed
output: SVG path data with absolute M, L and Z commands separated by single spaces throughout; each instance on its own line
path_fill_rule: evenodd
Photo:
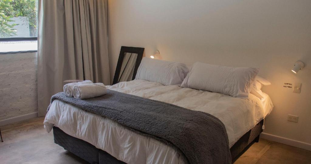
M 231 163 L 225 125 L 210 114 L 112 90 L 85 100 L 60 92 L 52 96 L 51 103 L 55 99 L 169 144 L 189 163 Z

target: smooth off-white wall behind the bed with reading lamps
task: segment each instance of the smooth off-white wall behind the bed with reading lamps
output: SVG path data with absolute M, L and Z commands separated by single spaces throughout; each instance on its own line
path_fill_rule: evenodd
M 311 143 L 310 0 L 109 0 L 108 27 L 111 80 L 121 46 L 144 47 L 146 56 L 159 49 L 160 59 L 188 66 L 260 67 L 275 105 L 264 132 Z M 297 60 L 305 68 L 295 75 Z M 283 87 L 294 82 L 300 94 Z

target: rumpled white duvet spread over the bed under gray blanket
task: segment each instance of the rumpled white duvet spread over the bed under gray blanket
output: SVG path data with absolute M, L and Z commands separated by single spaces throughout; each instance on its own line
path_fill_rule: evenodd
M 230 147 L 268 115 L 273 107 L 270 97 L 265 93 L 262 100 L 252 94 L 242 99 L 145 80 L 120 82 L 107 86 L 107 89 L 214 115 L 225 124 Z M 164 143 L 62 101 L 53 101 L 45 117 L 44 128 L 50 132 L 53 126 L 126 163 L 185 163 L 183 156 Z

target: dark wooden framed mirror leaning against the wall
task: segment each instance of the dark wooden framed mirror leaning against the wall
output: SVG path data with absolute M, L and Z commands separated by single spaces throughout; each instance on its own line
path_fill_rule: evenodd
M 122 46 L 119 54 L 113 84 L 135 79 L 145 48 Z

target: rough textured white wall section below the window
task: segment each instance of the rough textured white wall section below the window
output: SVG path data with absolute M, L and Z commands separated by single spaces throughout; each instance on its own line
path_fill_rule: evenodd
M 0 54 L 0 125 L 37 112 L 37 53 Z

